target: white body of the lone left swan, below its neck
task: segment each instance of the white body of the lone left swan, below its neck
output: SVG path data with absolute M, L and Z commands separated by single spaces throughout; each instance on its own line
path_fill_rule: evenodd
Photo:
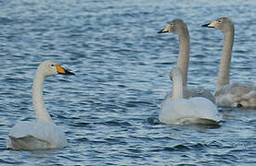
M 44 121 L 20 122 L 15 125 L 10 130 L 6 144 L 6 148 L 25 150 L 66 146 L 67 139 L 58 126 Z

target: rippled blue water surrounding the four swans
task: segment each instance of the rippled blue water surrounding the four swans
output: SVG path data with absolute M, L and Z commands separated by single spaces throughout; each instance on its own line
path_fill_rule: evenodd
M 2 165 L 255 165 L 255 109 L 224 109 L 221 127 L 161 125 L 160 102 L 178 54 L 177 36 L 157 34 L 182 18 L 191 37 L 189 87 L 213 92 L 223 34 L 236 26 L 232 82 L 255 82 L 255 1 L 0 1 Z M 10 128 L 34 119 L 32 78 L 53 59 L 76 73 L 49 77 L 45 102 L 67 148 L 6 149 Z

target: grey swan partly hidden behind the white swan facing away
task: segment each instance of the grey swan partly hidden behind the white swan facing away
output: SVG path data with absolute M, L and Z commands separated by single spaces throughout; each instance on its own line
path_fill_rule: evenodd
M 177 66 L 181 69 L 183 75 L 183 86 L 184 86 L 184 97 L 204 97 L 212 102 L 215 102 L 214 96 L 209 90 L 206 89 L 188 89 L 186 87 L 187 80 L 187 70 L 189 64 L 189 33 L 186 27 L 186 23 L 182 19 L 174 19 L 171 21 L 163 30 L 158 33 L 174 33 L 179 37 L 179 56 L 177 61 Z M 172 92 L 168 93 L 167 96 L 171 97 Z

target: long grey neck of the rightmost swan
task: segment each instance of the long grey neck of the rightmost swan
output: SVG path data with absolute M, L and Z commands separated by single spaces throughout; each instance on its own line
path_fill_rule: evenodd
M 230 30 L 224 32 L 224 47 L 223 54 L 221 59 L 221 65 L 218 73 L 218 83 L 215 91 L 221 89 L 224 85 L 229 84 L 229 75 L 230 75 L 230 61 L 231 53 L 234 42 L 234 25 L 230 27 Z

